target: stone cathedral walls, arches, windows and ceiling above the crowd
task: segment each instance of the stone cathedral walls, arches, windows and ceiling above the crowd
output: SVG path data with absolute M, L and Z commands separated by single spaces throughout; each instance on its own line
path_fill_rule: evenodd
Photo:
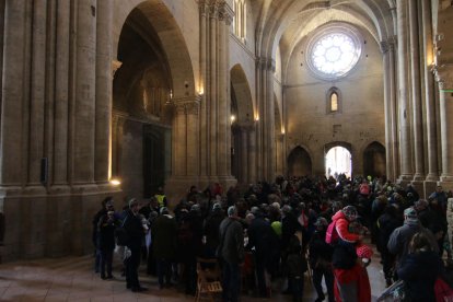
M 277 175 L 453 188 L 451 0 L 1 0 L 0 16 L 4 262 L 91 253 L 105 196 L 160 186 L 172 205 Z

